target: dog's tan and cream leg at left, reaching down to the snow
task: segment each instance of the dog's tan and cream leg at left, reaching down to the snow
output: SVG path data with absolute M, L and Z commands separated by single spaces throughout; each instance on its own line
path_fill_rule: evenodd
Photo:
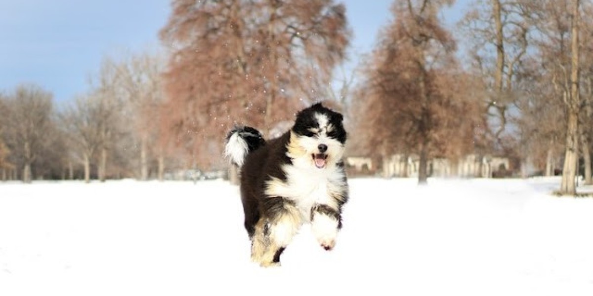
M 251 260 L 262 266 L 279 266 L 280 255 L 301 227 L 301 214 L 294 204 L 282 201 L 281 205 L 256 224 Z

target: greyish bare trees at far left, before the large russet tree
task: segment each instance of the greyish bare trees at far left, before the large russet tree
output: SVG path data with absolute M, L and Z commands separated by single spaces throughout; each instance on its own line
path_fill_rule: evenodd
M 106 57 L 88 91 L 56 105 L 50 91 L 23 83 L 0 96 L 2 179 L 160 179 L 163 101 L 158 54 Z

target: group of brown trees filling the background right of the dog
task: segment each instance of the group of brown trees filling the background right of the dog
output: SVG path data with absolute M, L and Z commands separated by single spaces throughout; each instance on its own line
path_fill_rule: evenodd
M 428 157 L 478 153 L 524 175 L 560 164 L 561 194 L 575 194 L 578 169 L 591 184 L 591 1 L 478 0 L 451 30 L 439 15 L 453 3 L 394 1 L 361 70 L 361 149 L 416 153 L 419 182 Z

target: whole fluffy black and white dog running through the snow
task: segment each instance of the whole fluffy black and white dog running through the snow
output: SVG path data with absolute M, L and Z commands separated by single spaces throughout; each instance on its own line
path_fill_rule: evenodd
M 311 223 L 321 247 L 333 249 L 348 200 L 342 119 L 317 103 L 298 112 L 291 130 L 273 140 L 247 126 L 229 132 L 225 155 L 240 167 L 254 262 L 280 265 L 280 254 L 303 223 Z

